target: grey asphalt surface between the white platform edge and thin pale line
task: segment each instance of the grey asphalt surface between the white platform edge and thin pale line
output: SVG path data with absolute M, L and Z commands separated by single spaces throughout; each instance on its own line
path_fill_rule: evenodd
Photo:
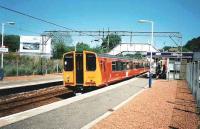
M 112 90 L 1 127 L 3 129 L 80 129 L 147 86 L 145 78 L 128 80 Z M 116 84 L 119 85 L 119 84 Z M 111 85 L 109 87 L 112 87 Z M 106 88 L 109 88 L 106 87 Z M 100 89 L 104 90 L 104 89 Z M 95 91 L 96 92 L 96 91 Z M 89 93 L 90 94 L 90 93 Z M 84 94 L 87 95 L 87 94 Z M 76 96 L 81 97 L 81 96 Z

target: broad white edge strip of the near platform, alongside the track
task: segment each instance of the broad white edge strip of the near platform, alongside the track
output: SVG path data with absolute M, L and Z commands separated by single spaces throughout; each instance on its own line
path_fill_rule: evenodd
M 140 75 L 140 76 L 142 76 L 142 75 Z M 51 104 L 48 104 L 48 105 L 44 105 L 44 106 L 41 106 L 41 107 L 38 107 L 38 108 L 34 108 L 34 109 L 26 110 L 26 111 L 23 111 L 23 112 L 19 112 L 19 113 L 16 113 L 16 114 L 12 114 L 12 115 L 9 115 L 9 116 L 1 117 L 0 118 L 0 127 L 3 127 L 3 126 L 6 126 L 6 125 L 9 125 L 9 124 L 12 124 L 12 123 L 33 117 L 33 116 L 36 116 L 36 115 L 41 114 L 41 113 L 45 113 L 45 112 L 57 109 L 57 108 L 62 107 L 62 106 L 66 106 L 66 105 L 71 104 L 73 102 L 83 100 L 85 98 L 103 93 L 105 91 L 109 91 L 109 90 L 118 88 L 120 86 L 128 84 L 129 82 L 132 82 L 132 81 L 136 81 L 138 79 L 139 78 L 132 78 L 130 80 L 120 82 L 120 83 L 117 83 L 117 84 L 114 84 L 114 85 L 111 85 L 111 86 L 108 86 L 108 87 L 105 87 L 105 88 L 102 88 L 102 89 L 99 89 L 99 90 L 95 90 L 95 91 L 92 91 L 92 92 L 89 92 L 89 93 L 86 93 L 86 94 L 75 96 L 75 97 L 72 97 L 72 98 L 69 98 L 69 99 L 66 99 L 66 100 L 61 100 L 61 101 L 54 102 L 54 103 L 51 103 Z

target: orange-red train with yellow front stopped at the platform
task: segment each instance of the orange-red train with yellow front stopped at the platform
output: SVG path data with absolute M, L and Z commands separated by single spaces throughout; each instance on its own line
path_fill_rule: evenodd
M 63 84 L 74 90 L 107 86 L 149 70 L 147 61 L 91 51 L 65 53 L 63 66 Z

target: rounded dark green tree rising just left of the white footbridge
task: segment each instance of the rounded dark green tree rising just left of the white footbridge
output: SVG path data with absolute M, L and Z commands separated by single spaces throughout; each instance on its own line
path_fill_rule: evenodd
M 108 43 L 109 40 L 109 43 Z M 121 37 L 116 34 L 107 35 L 106 38 L 103 39 L 103 43 L 101 44 L 102 48 L 107 48 L 109 51 L 113 49 L 115 46 L 121 43 Z M 108 47 L 109 44 L 109 47 Z

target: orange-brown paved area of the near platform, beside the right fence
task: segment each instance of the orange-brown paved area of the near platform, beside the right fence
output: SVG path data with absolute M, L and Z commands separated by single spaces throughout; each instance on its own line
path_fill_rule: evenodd
M 199 116 L 195 100 L 184 80 L 156 80 L 151 89 L 92 129 L 197 129 Z

